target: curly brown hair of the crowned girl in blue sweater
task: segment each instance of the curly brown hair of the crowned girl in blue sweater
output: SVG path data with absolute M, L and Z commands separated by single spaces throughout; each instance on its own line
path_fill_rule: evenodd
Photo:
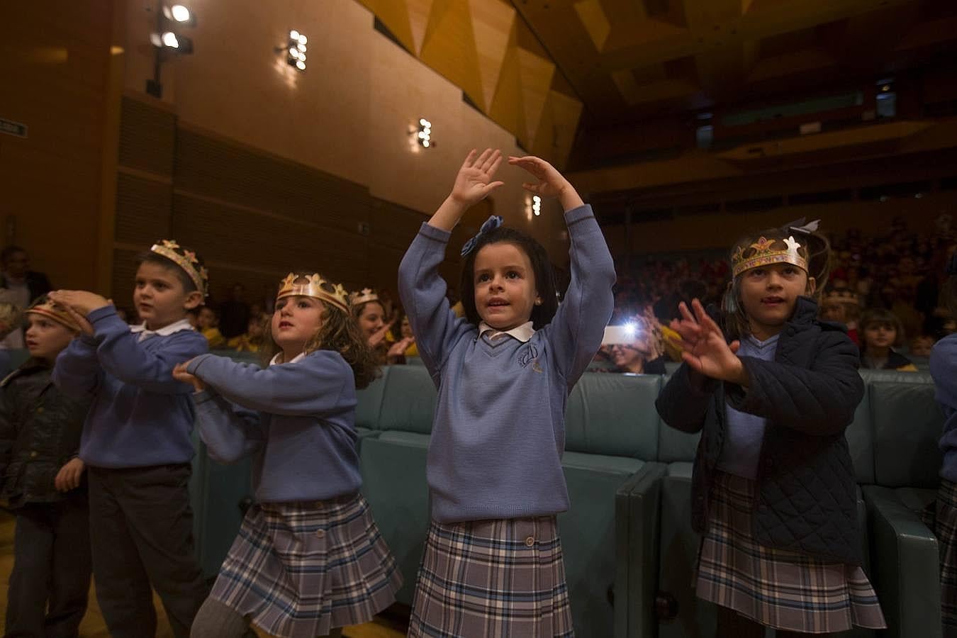
M 305 354 L 316 350 L 338 352 L 345 359 L 345 363 L 352 368 L 356 389 L 366 387 L 380 375 L 378 356 L 369 347 L 366 335 L 362 333 L 359 324 L 349 313 L 332 303 L 320 300 L 324 306 L 323 325 L 305 344 L 303 352 Z M 263 336 L 263 362 L 268 363 L 278 351 L 279 347 L 273 340 L 273 332 L 267 329 Z

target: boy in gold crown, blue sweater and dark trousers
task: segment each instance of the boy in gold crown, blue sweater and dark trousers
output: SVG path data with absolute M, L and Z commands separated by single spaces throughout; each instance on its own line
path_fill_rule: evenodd
M 203 303 L 208 277 L 195 253 L 164 240 L 140 255 L 130 326 L 107 299 L 85 291 L 50 297 L 82 333 L 60 353 L 54 383 L 92 399 L 79 457 L 89 480 L 97 599 L 110 635 L 156 632 L 150 587 L 176 636 L 188 636 L 207 588 L 194 557 L 189 508 L 191 388 L 176 363 L 208 351 L 187 313 Z

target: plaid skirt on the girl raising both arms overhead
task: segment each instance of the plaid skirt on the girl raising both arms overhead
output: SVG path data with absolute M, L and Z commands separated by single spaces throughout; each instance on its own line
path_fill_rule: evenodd
M 409 638 L 573 635 L 555 517 L 432 522 Z

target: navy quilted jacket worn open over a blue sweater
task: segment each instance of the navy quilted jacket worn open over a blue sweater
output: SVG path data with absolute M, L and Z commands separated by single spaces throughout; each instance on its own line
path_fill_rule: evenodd
M 844 429 L 864 384 L 857 346 L 842 326 L 818 321 L 817 304 L 800 297 L 773 362 L 742 357 L 750 386 L 708 380 L 691 385 L 681 364 L 658 396 L 669 426 L 701 430 L 692 477 L 692 525 L 703 534 L 709 486 L 721 455 L 724 404 L 768 419 L 756 478 L 753 536 L 763 545 L 860 564 L 857 483 Z

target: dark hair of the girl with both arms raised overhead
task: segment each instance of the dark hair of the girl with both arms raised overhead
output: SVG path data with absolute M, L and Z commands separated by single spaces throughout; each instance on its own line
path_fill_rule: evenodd
M 479 321 L 481 321 L 479 310 L 476 308 L 476 255 L 479 254 L 483 246 L 497 243 L 512 244 L 528 255 L 528 260 L 532 264 L 532 271 L 535 273 L 535 290 L 542 299 L 541 304 L 532 306 L 532 327 L 541 330 L 555 317 L 555 312 L 558 310 L 555 274 L 551 270 L 548 253 L 545 252 L 545 247 L 542 244 L 523 231 L 504 226 L 481 233 L 477 238 L 475 248 L 464 257 L 459 288 L 462 295 L 462 307 L 465 310 L 465 319 L 473 325 L 479 325 Z

